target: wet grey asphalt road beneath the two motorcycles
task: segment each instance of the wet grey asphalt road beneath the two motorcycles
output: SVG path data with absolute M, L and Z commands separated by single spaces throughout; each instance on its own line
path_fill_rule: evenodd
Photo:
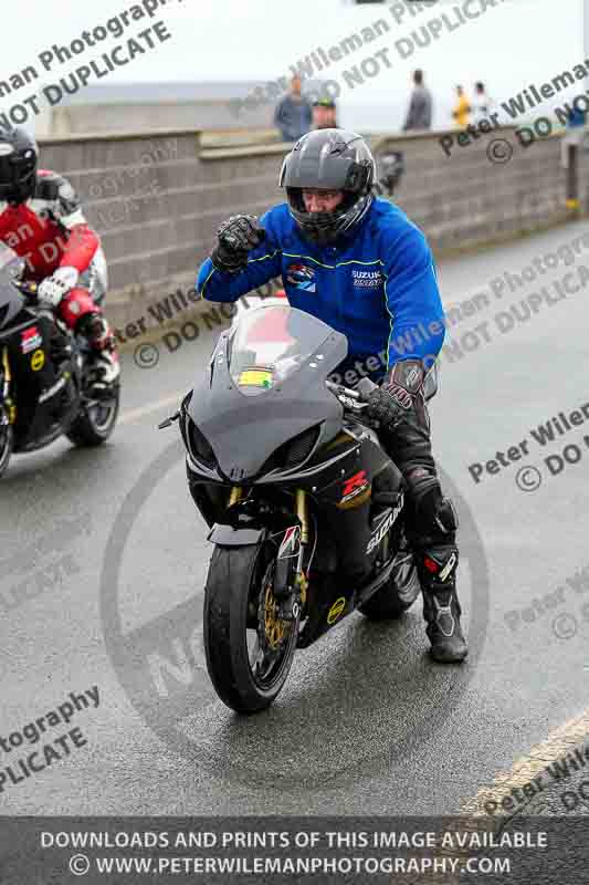
M 429 660 L 418 603 L 392 625 L 355 614 L 299 653 L 266 714 L 240 719 L 217 700 L 201 642 L 211 546 L 177 431 L 156 430 L 202 371 L 213 332 L 173 354 L 160 346 L 151 369 L 125 356 L 122 419 L 104 448 L 59 441 L 14 458 L 0 490 L 0 737 L 70 693 L 97 686 L 99 699 L 48 727 L 45 742 L 77 727 L 86 743 L 4 783 L 3 813 L 454 813 L 580 712 L 589 581 L 583 596 L 567 579 L 589 565 L 589 420 L 544 447 L 530 429 L 589 403 L 588 290 L 557 302 L 553 288 L 554 303 L 535 302 L 537 313 L 509 329 L 497 313 L 567 273 L 566 285 L 580 287 L 589 236 L 580 253 L 557 250 L 585 233 L 580 222 L 440 267 L 446 304 L 488 296 L 471 315 L 463 306 L 452 332 L 462 356 L 442 355 L 431 405 L 463 525 L 459 589 L 473 655 L 462 668 Z M 493 294 L 492 280 L 535 258 L 536 280 L 512 279 L 513 291 L 504 280 L 503 296 Z M 526 440 L 527 454 L 509 461 Z M 551 476 L 544 459 L 567 445 L 579 460 Z M 490 459 L 494 472 L 475 483 L 469 466 Z M 28 733 L 0 751 L 2 767 L 35 749 Z

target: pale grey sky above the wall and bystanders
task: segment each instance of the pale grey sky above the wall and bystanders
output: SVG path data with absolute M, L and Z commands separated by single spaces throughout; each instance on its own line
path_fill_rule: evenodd
M 407 15 L 399 25 L 390 14 L 390 3 L 354 7 L 350 0 L 168 0 L 151 20 L 135 22 L 124 38 L 111 39 L 90 49 L 70 65 L 50 74 L 54 82 L 108 45 L 125 41 L 136 31 L 158 19 L 168 23 L 172 39 L 147 52 L 126 67 L 102 81 L 173 80 L 252 80 L 265 82 L 286 74 L 291 64 L 319 45 L 329 48 L 350 33 L 382 17 L 391 30 L 374 49 L 390 46 L 392 67 L 382 70 L 369 84 L 341 95 L 341 104 L 381 104 L 391 96 L 406 95 L 410 72 L 419 66 L 429 84 L 449 95 L 455 83 L 469 87 L 484 80 L 496 97 L 505 97 L 528 83 L 551 79 L 583 58 L 582 0 L 505 0 L 480 19 L 470 21 L 453 33 L 442 33 L 439 41 L 401 60 L 395 41 L 413 28 L 461 6 L 449 0 L 432 7 L 419 19 Z M 140 2 L 140 0 L 139 0 Z M 474 6 L 477 0 L 472 0 Z M 6 80 L 27 64 L 38 65 L 38 53 L 52 43 L 67 44 L 80 32 L 92 30 L 115 14 L 129 9 L 129 0 L 57 0 L 56 12 L 46 0 L 20 0 L 20 31 L 4 41 L 0 80 Z M 25 22 L 25 24 L 24 24 Z M 370 54 L 366 46 L 357 59 L 347 59 L 329 69 L 339 80 L 350 63 Z M 25 95 L 23 90 L 20 95 Z M 1 100 L 6 110 L 10 98 Z

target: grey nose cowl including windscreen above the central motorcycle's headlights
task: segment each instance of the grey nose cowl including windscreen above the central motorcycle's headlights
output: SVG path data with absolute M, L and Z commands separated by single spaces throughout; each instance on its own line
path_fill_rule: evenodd
M 288 304 L 250 309 L 221 335 L 188 414 L 225 477 L 256 475 L 311 427 L 337 433 L 343 407 L 325 381 L 347 351 L 345 335 Z

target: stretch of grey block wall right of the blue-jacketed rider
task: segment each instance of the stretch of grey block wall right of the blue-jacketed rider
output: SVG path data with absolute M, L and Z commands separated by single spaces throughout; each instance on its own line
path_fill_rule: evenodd
M 395 199 L 438 253 L 511 239 L 569 217 L 561 138 L 538 139 L 524 148 L 514 132 L 503 128 L 464 147 L 454 143 L 450 156 L 439 143 L 441 134 L 386 138 L 375 145 L 378 153 L 403 152 L 406 174 Z M 513 149 L 513 155 L 504 163 L 492 162 L 494 149 L 502 156 Z

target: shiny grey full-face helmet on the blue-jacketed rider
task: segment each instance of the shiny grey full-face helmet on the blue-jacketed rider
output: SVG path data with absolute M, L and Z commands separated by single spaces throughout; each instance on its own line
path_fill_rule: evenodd
M 291 215 L 303 235 L 319 246 L 335 242 L 366 216 L 372 202 L 376 163 L 361 135 L 347 129 L 316 129 L 295 144 L 282 165 Z M 307 212 L 303 188 L 343 190 L 333 212 Z

